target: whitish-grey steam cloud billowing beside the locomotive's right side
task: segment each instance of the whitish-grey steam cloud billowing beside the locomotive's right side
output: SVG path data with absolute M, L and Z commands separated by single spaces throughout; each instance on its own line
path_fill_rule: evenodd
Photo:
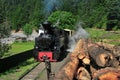
M 72 52 L 75 48 L 76 43 L 78 42 L 79 39 L 85 39 L 89 37 L 88 32 L 86 32 L 80 25 L 80 23 L 78 23 L 76 25 L 78 27 L 77 31 L 75 31 L 75 33 L 73 34 L 73 36 L 71 36 L 69 38 L 69 49 L 67 51 Z

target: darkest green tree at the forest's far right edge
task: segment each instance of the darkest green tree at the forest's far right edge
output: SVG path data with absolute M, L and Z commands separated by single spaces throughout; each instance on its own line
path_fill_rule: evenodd
M 113 28 L 120 29 L 120 1 L 119 0 L 105 0 L 107 10 L 107 28 L 106 30 L 112 30 Z

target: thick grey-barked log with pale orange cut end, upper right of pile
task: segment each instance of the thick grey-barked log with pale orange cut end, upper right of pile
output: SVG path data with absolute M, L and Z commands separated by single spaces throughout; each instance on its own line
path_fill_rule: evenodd
M 113 60 L 113 55 L 109 51 L 106 51 L 99 46 L 90 46 L 88 51 L 93 64 L 96 64 L 99 67 L 110 66 L 110 61 Z

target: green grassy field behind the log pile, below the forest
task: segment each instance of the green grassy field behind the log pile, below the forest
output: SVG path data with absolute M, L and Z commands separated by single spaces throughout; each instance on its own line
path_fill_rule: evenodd
M 120 31 L 105 31 L 91 28 L 87 28 L 86 31 L 94 42 L 103 41 L 109 44 L 120 45 Z

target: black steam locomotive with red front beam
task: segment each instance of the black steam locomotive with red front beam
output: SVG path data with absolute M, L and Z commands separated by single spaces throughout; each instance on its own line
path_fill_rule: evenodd
M 43 33 L 35 38 L 34 57 L 40 62 L 49 60 L 56 62 L 68 45 L 68 32 L 53 27 L 51 22 L 42 23 Z

